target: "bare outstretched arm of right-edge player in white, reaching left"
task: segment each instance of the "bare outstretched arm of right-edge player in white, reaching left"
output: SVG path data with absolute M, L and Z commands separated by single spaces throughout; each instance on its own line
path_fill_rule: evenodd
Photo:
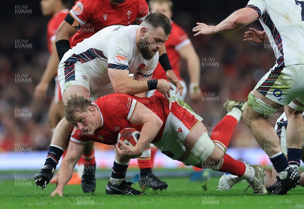
M 212 35 L 226 31 L 235 31 L 245 27 L 257 19 L 258 13 L 254 9 L 242 8 L 232 13 L 218 25 L 212 26 L 204 23 L 197 23 L 198 26 L 194 27 L 192 31 L 197 32 L 195 36 L 200 34 Z

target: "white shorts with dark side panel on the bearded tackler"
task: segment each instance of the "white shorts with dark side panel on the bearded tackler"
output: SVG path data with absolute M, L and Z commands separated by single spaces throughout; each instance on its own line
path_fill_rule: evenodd
M 102 64 L 103 62 L 100 61 L 100 66 Z M 58 80 L 61 95 L 63 95 L 67 87 L 73 85 L 80 85 L 88 89 L 91 94 L 91 101 L 96 100 L 98 97 L 114 93 L 107 69 L 97 69 L 90 62 L 81 63 L 72 56 L 59 63 Z

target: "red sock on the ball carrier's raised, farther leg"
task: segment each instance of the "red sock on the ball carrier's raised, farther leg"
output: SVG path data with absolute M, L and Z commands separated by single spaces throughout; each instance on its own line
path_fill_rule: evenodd
M 224 152 L 227 150 L 227 146 L 230 143 L 232 133 L 235 130 L 237 124 L 238 120 L 235 117 L 226 115 L 216 124 L 212 130 L 211 140 L 216 143 Z

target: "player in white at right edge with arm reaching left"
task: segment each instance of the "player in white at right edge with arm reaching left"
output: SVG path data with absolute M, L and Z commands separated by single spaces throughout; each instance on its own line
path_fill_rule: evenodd
M 285 106 L 289 121 L 288 151 L 294 162 L 301 157 L 304 139 L 304 3 L 296 0 L 251 0 L 215 26 L 197 23 L 196 35 L 238 30 L 259 19 L 267 33 L 277 61 L 248 95 L 243 119 L 261 148 L 268 154 L 278 181 L 274 194 L 286 194 L 300 181 L 298 164 L 288 164 L 280 148 L 279 138 L 267 117 Z M 272 149 L 268 149 L 269 147 Z

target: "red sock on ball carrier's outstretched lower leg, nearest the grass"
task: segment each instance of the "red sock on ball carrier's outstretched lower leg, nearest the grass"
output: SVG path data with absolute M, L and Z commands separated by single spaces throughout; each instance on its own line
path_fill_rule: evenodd
M 220 170 L 221 172 L 230 173 L 235 176 L 243 176 L 245 174 L 246 166 L 244 162 L 232 158 L 225 154 Z

